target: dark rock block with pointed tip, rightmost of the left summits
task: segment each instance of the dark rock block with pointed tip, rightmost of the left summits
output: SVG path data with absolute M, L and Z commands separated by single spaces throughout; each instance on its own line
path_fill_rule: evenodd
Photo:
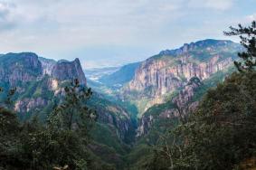
M 52 78 L 61 81 L 78 79 L 81 84 L 86 85 L 86 79 L 79 59 L 74 61 L 58 61 L 52 67 Z

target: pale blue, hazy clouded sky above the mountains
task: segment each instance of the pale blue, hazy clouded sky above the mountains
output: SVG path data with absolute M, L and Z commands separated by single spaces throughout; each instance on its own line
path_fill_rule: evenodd
M 239 42 L 223 31 L 252 20 L 256 0 L 0 0 L 0 53 L 119 66 L 185 42 Z

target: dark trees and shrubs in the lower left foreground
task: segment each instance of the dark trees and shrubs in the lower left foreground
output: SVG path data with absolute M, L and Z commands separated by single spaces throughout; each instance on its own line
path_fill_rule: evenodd
M 46 124 L 37 118 L 21 123 L 2 107 L 0 169 L 91 169 L 94 163 L 87 145 L 96 115 L 86 105 L 90 95 L 90 89 L 75 80 L 65 88 L 65 99 Z

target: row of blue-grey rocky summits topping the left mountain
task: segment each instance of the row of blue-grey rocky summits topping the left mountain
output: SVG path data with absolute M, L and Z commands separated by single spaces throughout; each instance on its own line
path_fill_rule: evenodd
M 86 84 L 79 59 L 57 62 L 38 57 L 33 52 L 10 52 L 0 56 L 0 80 L 11 86 L 41 80 L 46 74 L 53 80 L 79 79 L 81 84 Z

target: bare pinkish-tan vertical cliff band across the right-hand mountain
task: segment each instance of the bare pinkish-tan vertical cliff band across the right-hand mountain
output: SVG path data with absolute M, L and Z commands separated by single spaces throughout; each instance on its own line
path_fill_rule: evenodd
M 191 60 L 192 56 L 181 57 L 174 65 L 168 65 L 162 60 L 145 61 L 137 70 L 135 78 L 129 82 L 127 89 L 141 91 L 153 87 L 151 95 L 156 97 L 182 87 L 185 81 L 193 77 L 207 79 L 232 64 L 232 57 L 223 59 L 221 55 L 214 55 L 209 61 L 201 63 Z

